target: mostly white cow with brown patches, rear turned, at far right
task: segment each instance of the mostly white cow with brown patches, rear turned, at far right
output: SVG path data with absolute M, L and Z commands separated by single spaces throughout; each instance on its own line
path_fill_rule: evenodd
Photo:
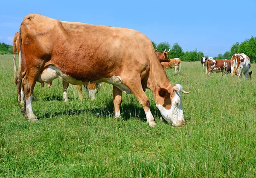
M 248 78 L 250 70 L 250 58 L 244 53 L 234 54 L 231 58 L 231 76 L 238 75 L 239 78 L 242 78 L 242 73 L 245 78 Z

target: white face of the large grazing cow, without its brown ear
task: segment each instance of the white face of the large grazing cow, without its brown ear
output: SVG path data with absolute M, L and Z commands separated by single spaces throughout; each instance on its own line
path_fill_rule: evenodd
M 163 104 L 156 103 L 156 105 L 163 119 L 166 120 L 169 124 L 172 124 L 173 126 L 184 126 L 185 120 L 181 100 L 181 91 L 183 91 L 183 89 L 179 84 L 176 84 L 173 88 L 177 89 L 178 91 L 173 90 L 171 95 L 169 95 L 168 98 L 165 98 Z

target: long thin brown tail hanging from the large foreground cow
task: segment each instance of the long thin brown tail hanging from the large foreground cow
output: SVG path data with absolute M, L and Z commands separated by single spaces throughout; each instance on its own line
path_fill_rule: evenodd
M 17 101 L 20 102 L 20 92 L 21 92 L 21 86 L 22 86 L 22 69 L 21 69 L 21 43 L 22 43 L 22 39 L 21 39 L 21 29 L 20 29 L 20 51 L 19 51 L 19 68 L 18 71 L 16 73 L 16 78 L 15 78 L 15 83 L 17 85 Z

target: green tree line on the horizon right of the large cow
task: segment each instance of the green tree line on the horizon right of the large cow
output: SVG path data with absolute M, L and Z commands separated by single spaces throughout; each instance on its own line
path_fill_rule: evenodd
M 198 61 L 201 60 L 202 56 L 204 56 L 204 53 L 200 51 L 198 52 L 197 49 L 191 52 L 183 52 L 183 49 L 178 43 L 174 43 L 172 47 L 166 41 L 161 42 L 158 45 L 152 41 L 152 44 L 154 49 L 157 49 L 158 52 L 163 52 L 165 49 L 171 49 L 171 51 L 168 53 L 170 59 L 180 58 L 181 61 Z M 256 63 L 256 37 L 251 37 L 250 39 L 246 39 L 241 43 L 236 42 L 236 44 L 231 46 L 230 51 L 225 52 L 223 55 L 218 54 L 218 56 L 213 57 L 213 59 L 231 59 L 231 57 L 237 53 L 246 54 L 250 57 L 251 63 Z

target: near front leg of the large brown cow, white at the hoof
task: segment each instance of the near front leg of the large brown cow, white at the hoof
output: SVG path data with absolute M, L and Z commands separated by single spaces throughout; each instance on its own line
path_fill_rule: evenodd
M 140 76 L 139 77 L 134 76 L 131 78 L 133 78 L 133 80 L 130 79 L 128 80 L 128 82 L 125 82 L 124 84 L 131 90 L 131 92 L 134 94 L 134 96 L 139 100 L 140 104 L 143 106 L 148 125 L 151 127 L 156 126 L 156 123 L 154 122 L 154 117 L 149 109 L 148 97 L 145 94 L 141 85 Z

